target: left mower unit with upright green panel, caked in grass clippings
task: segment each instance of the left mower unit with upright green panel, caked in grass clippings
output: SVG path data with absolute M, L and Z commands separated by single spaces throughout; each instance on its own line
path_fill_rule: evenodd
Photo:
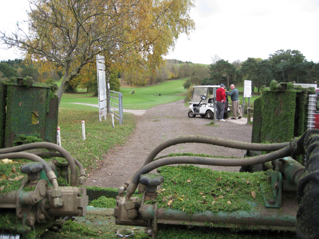
M 30 77 L 0 83 L 0 232 L 3 237 L 34 238 L 56 217 L 86 214 L 88 196 L 86 188 L 81 187 L 85 170 L 56 144 L 56 89 L 56 85 L 35 85 Z M 35 142 L 29 143 L 32 141 Z M 67 163 L 48 161 L 50 157 L 63 157 Z

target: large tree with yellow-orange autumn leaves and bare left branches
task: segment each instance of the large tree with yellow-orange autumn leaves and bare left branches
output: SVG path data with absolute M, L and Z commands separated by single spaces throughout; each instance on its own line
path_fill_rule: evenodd
M 48 68 L 63 70 L 59 103 L 82 68 L 104 55 L 107 66 L 155 69 L 181 33 L 194 29 L 194 0 L 28 0 L 28 32 L 0 41 Z

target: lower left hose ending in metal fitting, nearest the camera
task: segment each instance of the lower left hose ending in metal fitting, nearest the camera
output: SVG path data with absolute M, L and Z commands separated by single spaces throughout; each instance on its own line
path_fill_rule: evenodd
M 57 178 L 56 178 L 54 172 L 52 171 L 51 167 L 47 164 L 47 162 L 45 162 L 39 156 L 34 155 L 32 153 L 26 153 L 26 152 L 0 154 L 0 159 L 5 159 L 5 158 L 7 158 L 7 159 L 24 158 L 24 159 L 28 159 L 28 160 L 31 160 L 31 161 L 34 161 L 34 162 L 43 163 L 44 164 L 44 172 L 46 173 L 49 181 L 51 182 L 51 184 L 53 186 L 53 189 L 58 189 L 59 188 Z

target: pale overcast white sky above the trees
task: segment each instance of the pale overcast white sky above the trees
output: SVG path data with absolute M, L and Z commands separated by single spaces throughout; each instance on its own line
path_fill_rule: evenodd
M 26 19 L 25 7 L 27 0 L 2 2 L 1 28 Z M 181 35 L 165 58 L 210 64 L 215 54 L 233 62 L 291 49 L 319 61 L 319 0 L 196 0 L 190 15 L 196 30 L 190 40 Z M 13 51 L 0 50 L 0 60 L 14 58 Z

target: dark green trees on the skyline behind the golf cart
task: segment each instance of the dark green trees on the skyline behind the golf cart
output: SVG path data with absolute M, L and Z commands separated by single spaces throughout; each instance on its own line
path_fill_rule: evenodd
M 255 87 L 269 86 L 272 80 L 277 82 L 295 82 L 314 84 L 319 78 L 319 62 L 308 61 L 298 50 L 278 50 L 269 55 L 268 59 L 248 58 L 241 62 L 229 63 L 218 55 L 212 57 L 209 66 L 209 77 L 194 76 L 185 81 L 184 88 L 191 85 L 220 85 L 227 88 L 231 84 L 241 85 L 244 80 L 252 81 Z

